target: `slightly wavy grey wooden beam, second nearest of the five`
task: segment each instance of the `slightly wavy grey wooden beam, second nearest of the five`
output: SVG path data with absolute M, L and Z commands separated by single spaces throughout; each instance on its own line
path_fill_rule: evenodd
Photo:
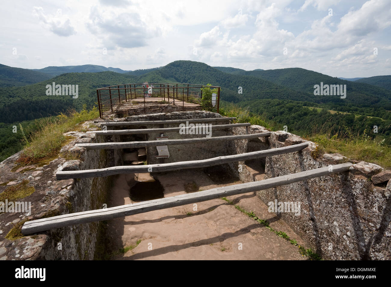
M 217 166 L 227 162 L 238 162 L 242 160 L 258 159 L 261 157 L 271 157 L 283 153 L 298 152 L 308 146 L 308 143 L 294 144 L 292 146 L 284 146 L 282 148 L 272 148 L 270 150 L 261 150 L 257 152 L 242 153 L 239 155 L 225 155 L 221 157 L 213 157 L 203 160 L 189 160 L 181 162 L 171 162 L 166 164 L 150 164 L 145 166 L 114 166 L 102 169 L 88 169 L 77 171 L 57 171 L 57 180 L 68 178 L 88 178 L 109 175 L 120 175 L 126 173 L 147 173 L 147 172 L 163 172 L 174 171 L 179 169 L 190 168 L 206 168 L 208 166 Z

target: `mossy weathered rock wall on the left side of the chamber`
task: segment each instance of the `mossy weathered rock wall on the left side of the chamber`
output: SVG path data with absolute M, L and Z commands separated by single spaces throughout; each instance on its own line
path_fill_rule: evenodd
M 85 130 L 89 130 L 91 123 L 92 121 L 86 121 L 80 126 Z M 86 133 L 71 131 L 66 133 L 66 135 L 72 136 L 75 139 L 62 148 L 61 152 L 64 153 L 61 153 L 59 158 L 41 167 L 32 166 L 36 170 L 25 171 L 24 173 L 10 172 L 15 167 L 15 160 L 18 159 L 21 152 L 0 163 L 0 177 L 2 181 L 10 181 L 9 184 L 18 184 L 29 178 L 29 185 L 34 186 L 36 190 L 31 196 L 24 199 L 25 201 L 32 202 L 32 214 L 30 216 L 20 217 L 19 213 L 0 214 L 0 226 L 2 226 L 2 230 L 0 231 L 0 246 L 6 248 L 4 256 L 0 256 L 0 259 L 93 259 L 99 223 L 59 228 L 45 232 L 45 234 L 34 235 L 34 238 L 26 236 L 14 241 L 5 239 L 5 235 L 14 227 L 12 222 L 20 222 L 23 219 L 31 220 L 55 216 L 69 212 L 93 210 L 100 208 L 103 203 L 107 203 L 107 187 L 111 182 L 109 177 L 87 178 L 78 181 L 74 179 L 56 180 L 56 171 L 63 167 L 64 169 L 77 170 L 79 164 L 83 169 L 122 165 L 119 151 L 103 152 L 93 150 L 86 152 L 84 148 L 74 147 L 76 139 L 86 135 Z M 86 138 L 91 139 L 90 136 Z M 103 141 L 100 137 L 93 139 L 96 142 Z M 115 137 L 114 140 L 119 141 L 119 138 Z M 76 153 L 87 153 L 88 155 L 85 159 L 69 160 L 68 162 L 62 157 L 68 156 L 68 154 L 76 155 Z M 39 176 L 34 178 L 32 174 L 37 175 L 37 171 L 39 172 Z M 0 193 L 6 187 L 0 186 Z M 3 244 L 3 242 L 5 243 Z M 57 242 L 61 242 L 63 246 L 62 250 L 58 250 Z

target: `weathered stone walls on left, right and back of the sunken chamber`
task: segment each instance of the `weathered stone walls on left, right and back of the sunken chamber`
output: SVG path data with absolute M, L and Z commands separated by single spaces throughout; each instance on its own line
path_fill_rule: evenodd
M 133 116 L 124 120 L 160 120 L 164 119 L 189 119 L 189 118 L 216 118 L 221 115 L 212 112 L 176 112 L 171 114 L 149 114 L 145 116 Z M 97 119 L 95 122 L 109 121 Z M 90 130 L 92 121 L 81 124 L 83 130 Z M 166 127 L 174 127 L 167 125 Z M 158 128 L 159 126 L 149 126 Z M 260 126 L 248 127 L 249 133 L 267 131 Z M 74 147 L 77 140 L 92 139 L 94 142 L 120 141 L 119 136 L 113 137 L 83 137 L 84 132 L 69 132 L 75 137 L 73 141 L 63 147 L 65 153 L 58 159 L 52 160 L 39 169 L 39 180 L 31 177 L 37 169 L 25 173 L 12 173 L 15 160 L 20 153 L 9 157 L 0 163 L 0 176 L 2 182 L 17 184 L 30 177 L 30 184 L 36 191 L 32 194 L 32 215 L 29 219 L 93 210 L 102 207 L 106 203 L 110 177 L 84 178 L 81 180 L 61 180 L 55 178 L 56 170 L 60 168 L 96 169 L 108 166 L 123 165 L 122 150 L 79 150 Z M 245 128 L 232 128 L 217 131 L 212 136 L 246 134 Z M 178 133 L 168 133 L 170 139 L 179 138 Z M 191 137 L 192 135 L 186 135 Z M 152 140 L 156 135 L 149 135 L 147 140 Z M 194 135 L 199 137 L 199 135 Z M 126 137 L 124 137 L 126 140 Z M 183 135 L 181 135 L 183 138 Z M 137 140 L 129 135 L 128 139 Z M 319 168 L 328 165 L 328 160 L 339 160 L 334 155 L 324 155 L 322 160 L 314 159 L 313 152 L 316 144 L 306 141 L 291 133 L 279 131 L 272 132 L 270 137 L 251 139 L 245 141 L 227 141 L 219 145 L 179 145 L 170 146 L 170 158 L 156 159 L 156 148 L 147 150 L 149 164 L 161 162 L 175 162 L 183 160 L 196 160 L 216 157 L 219 155 L 238 154 L 265 150 L 291 144 L 307 142 L 308 148 L 301 152 L 277 155 L 265 159 L 256 159 L 251 162 L 235 162 L 223 165 L 234 175 L 239 176 L 242 182 L 262 180 L 275 176 L 296 173 L 303 170 Z M 135 152 L 136 150 L 134 150 Z M 83 153 L 81 160 L 66 161 L 65 155 Z M 73 154 L 74 153 L 74 154 Z M 320 158 L 322 156 L 320 155 Z M 345 159 L 343 159 L 345 160 Z M 242 171 L 238 170 L 238 164 L 242 164 Z M 72 169 L 75 168 L 75 169 Z M 65 170 L 65 169 L 63 169 Z M 352 167 L 351 173 L 335 174 L 314 178 L 305 182 L 284 185 L 274 189 L 257 192 L 258 197 L 266 204 L 269 201 L 300 201 L 301 213 L 295 216 L 284 212 L 271 214 L 281 217 L 291 225 L 301 238 L 310 242 L 312 249 L 321 253 L 325 259 L 391 259 L 389 250 L 391 241 L 391 227 L 389 226 L 389 199 L 391 197 L 391 184 L 386 189 L 374 187 L 368 181 L 369 176 L 375 176 L 381 170 L 380 166 L 359 162 Z M 10 182 L 9 182 L 10 181 Z M 0 193 L 7 186 L 0 186 Z M 93 196 L 91 196 L 93 194 Z M 35 197 L 34 197 L 35 196 Z M 30 200 L 29 198 L 26 200 Z M 377 211 L 374 207 L 378 207 Z M 58 230 L 51 230 L 45 234 L 32 237 L 23 237 L 15 241 L 5 239 L 5 235 L 13 228 L 12 222 L 19 218 L 15 214 L 0 214 L 0 259 L 93 259 L 95 242 L 97 238 L 98 223 L 68 226 Z M 269 219 L 269 218 L 265 218 Z M 59 240 L 59 241 L 58 241 Z M 3 243 L 4 242 L 4 243 Z M 57 249 L 57 243 L 61 242 L 63 250 Z M 64 248 L 66 246 L 66 248 Z

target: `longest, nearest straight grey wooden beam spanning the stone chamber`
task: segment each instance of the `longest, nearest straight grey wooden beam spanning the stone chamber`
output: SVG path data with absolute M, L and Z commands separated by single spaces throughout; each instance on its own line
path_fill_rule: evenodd
M 311 178 L 330 175 L 332 173 L 349 171 L 349 168 L 352 165 L 352 163 L 347 162 L 334 165 L 332 166 L 332 169 L 326 166 L 324 168 L 302 171 L 299 173 L 268 178 L 256 182 L 217 187 L 205 191 L 198 191 L 195 193 L 187 193 L 172 197 L 159 198 L 156 200 L 142 201 L 134 204 L 121 205 L 106 209 L 90 210 L 36 219 L 32 221 L 27 221 L 23 224 L 22 234 L 29 235 L 54 228 L 61 228 L 65 226 L 89 223 L 94 221 L 109 220 L 117 217 L 140 214 L 152 210 L 166 209 L 170 207 L 212 200 L 215 198 L 221 198 L 235 194 L 260 191 L 272 187 L 277 187 L 280 185 L 291 184 L 293 182 L 299 182 L 302 180 L 308 180 Z

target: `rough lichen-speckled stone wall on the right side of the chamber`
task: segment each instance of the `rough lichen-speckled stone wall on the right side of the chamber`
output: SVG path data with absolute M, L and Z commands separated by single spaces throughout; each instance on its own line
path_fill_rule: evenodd
M 249 128 L 249 132 L 252 133 L 253 130 Z M 267 138 L 267 146 L 258 142 L 254 148 L 278 148 L 299 143 L 300 140 L 300 137 L 287 132 L 272 132 Z M 314 159 L 316 144 L 308 143 L 308 148 L 301 152 L 267 157 L 265 162 L 255 160 L 249 168 L 244 162 L 239 162 L 237 164 L 243 165 L 241 172 L 238 171 L 237 164 L 231 164 L 231 171 L 243 182 L 250 182 L 255 180 L 251 176 L 251 169 L 261 171 L 264 168 L 265 178 L 272 178 L 337 163 L 329 160 L 346 161 L 339 155 L 325 155 L 322 160 L 319 160 L 319 157 Z M 249 150 L 248 141 L 235 145 L 234 153 L 250 151 L 253 150 Z M 386 215 L 389 207 L 384 207 L 389 206 L 387 200 L 391 197 L 391 184 L 389 189 L 373 188 L 368 181 L 370 175 L 380 170 L 381 167 L 375 164 L 359 162 L 352 167 L 351 173 L 322 176 L 258 191 L 256 194 L 265 204 L 274 200 L 301 202 L 300 215 L 280 212 L 273 213 L 270 217 L 282 218 L 298 235 L 312 244 L 312 250 L 325 259 L 389 260 L 391 251 L 387 246 L 391 242 L 391 228 L 389 215 Z M 374 206 L 381 208 L 375 212 Z

